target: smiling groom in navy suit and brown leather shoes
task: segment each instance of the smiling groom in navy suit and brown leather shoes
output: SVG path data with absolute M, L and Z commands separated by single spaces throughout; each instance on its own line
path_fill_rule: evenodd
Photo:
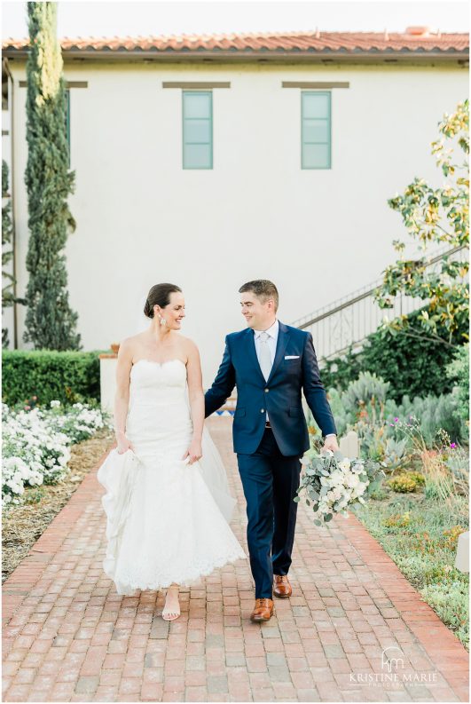
M 300 458 L 310 447 L 301 392 L 337 450 L 334 417 L 320 380 L 310 333 L 277 320 L 278 290 L 271 281 L 239 289 L 247 329 L 225 338 L 224 357 L 205 395 L 205 415 L 224 404 L 237 384 L 233 441 L 247 501 L 247 543 L 255 580 L 252 621 L 269 621 L 275 597 L 291 596 L 291 566 Z

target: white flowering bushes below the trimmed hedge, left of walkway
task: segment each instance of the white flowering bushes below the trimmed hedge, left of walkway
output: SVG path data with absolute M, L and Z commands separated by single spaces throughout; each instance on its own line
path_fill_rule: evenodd
M 69 446 L 90 438 L 110 420 L 81 403 L 12 409 L 2 404 L 2 503 L 20 504 L 25 486 L 56 484 L 68 471 Z

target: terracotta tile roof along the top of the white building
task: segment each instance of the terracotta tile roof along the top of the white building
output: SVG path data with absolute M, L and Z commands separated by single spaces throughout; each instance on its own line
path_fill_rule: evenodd
M 63 51 L 466 51 L 469 36 L 464 32 L 413 34 L 398 32 L 270 32 L 250 34 L 181 36 L 64 37 Z M 24 50 L 28 39 L 9 38 L 3 50 Z

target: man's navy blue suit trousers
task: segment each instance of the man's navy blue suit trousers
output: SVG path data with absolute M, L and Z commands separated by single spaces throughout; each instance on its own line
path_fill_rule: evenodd
M 285 456 L 267 428 L 255 453 L 238 454 L 247 502 L 247 543 L 255 598 L 272 598 L 273 573 L 291 566 L 302 455 Z

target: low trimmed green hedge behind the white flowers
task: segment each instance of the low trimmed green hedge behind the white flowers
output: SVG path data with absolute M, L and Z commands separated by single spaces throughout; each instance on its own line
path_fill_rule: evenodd
M 37 396 L 36 403 L 99 402 L 100 352 L 4 350 L 2 400 L 9 406 Z

